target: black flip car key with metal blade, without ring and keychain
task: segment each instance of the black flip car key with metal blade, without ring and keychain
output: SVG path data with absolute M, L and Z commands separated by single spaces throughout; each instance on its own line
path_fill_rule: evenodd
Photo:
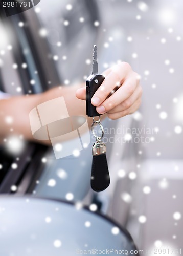
M 92 75 L 86 79 L 86 115 L 89 117 L 99 116 L 100 114 L 96 110 L 96 106 L 91 104 L 91 98 L 94 96 L 97 89 L 101 86 L 105 77 L 98 74 L 98 63 L 97 63 L 97 46 L 94 46 L 93 53 L 93 71 Z

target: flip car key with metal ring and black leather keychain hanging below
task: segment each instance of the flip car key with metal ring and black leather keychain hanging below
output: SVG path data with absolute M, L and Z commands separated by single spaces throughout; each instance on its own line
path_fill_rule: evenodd
M 100 123 L 100 114 L 96 111 L 96 107 L 91 104 L 91 98 L 101 86 L 104 79 L 105 77 L 103 75 L 98 74 L 97 46 L 94 46 L 93 72 L 92 75 L 88 76 L 86 79 L 86 114 L 89 117 L 93 117 L 91 131 L 96 138 L 96 142 L 92 147 L 93 161 L 91 167 L 91 188 L 96 192 L 103 191 L 110 184 L 106 158 L 106 145 L 101 140 L 104 135 L 104 128 Z M 96 116 L 99 116 L 98 120 L 95 120 Z M 95 124 L 100 126 L 100 136 L 95 134 Z

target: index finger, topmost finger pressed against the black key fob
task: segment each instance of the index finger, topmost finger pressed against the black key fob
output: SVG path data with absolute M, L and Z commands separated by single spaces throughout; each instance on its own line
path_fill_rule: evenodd
M 111 91 L 121 84 L 123 79 L 127 76 L 127 73 L 130 71 L 131 67 L 126 62 L 121 62 L 119 65 L 107 70 L 108 75 L 94 94 L 93 98 L 91 99 L 91 103 L 94 106 L 101 105 Z

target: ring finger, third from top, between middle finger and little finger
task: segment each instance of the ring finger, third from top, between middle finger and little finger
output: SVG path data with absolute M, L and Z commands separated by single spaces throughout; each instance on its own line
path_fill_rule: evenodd
M 140 86 L 140 84 L 138 84 L 134 93 L 129 98 L 121 102 L 119 105 L 117 105 L 115 108 L 111 109 L 107 113 L 113 114 L 113 113 L 117 113 L 117 112 L 121 112 L 123 110 L 129 109 L 134 104 L 134 102 L 138 100 L 141 96 L 142 96 L 142 87 Z

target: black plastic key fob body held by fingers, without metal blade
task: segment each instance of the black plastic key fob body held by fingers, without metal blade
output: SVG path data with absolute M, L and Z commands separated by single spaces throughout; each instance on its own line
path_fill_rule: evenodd
M 97 89 L 101 86 L 105 77 L 100 74 L 88 76 L 86 79 L 86 115 L 90 117 L 99 116 L 96 106 L 91 104 L 91 98 L 94 96 Z

